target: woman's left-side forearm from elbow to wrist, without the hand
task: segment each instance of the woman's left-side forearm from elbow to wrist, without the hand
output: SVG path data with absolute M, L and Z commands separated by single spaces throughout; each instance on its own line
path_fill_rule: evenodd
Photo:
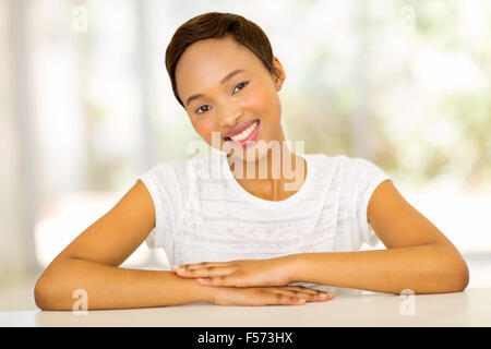
M 41 310 L 72 310 L 74 291 L 86 292 L 87 309 L 129 309 L 213 302 L 214 288 L 166 270 L 127 269 L 67 257 L 51 264 L 35 287 Z

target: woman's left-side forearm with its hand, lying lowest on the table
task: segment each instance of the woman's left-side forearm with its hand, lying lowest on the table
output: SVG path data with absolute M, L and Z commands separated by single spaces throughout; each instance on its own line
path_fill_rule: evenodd
M 73 270 L 76 270 L 74 273 Z M 80 297 L 86 292 L 87 310 L 129 309 L 211 302 L 217 305 L 303 305 L 323 302 L 334 294 L 306 288 L 208 287 L 171 272 L 124 269 L 92 261 L 68 258 L 51 265 L 36 284 L 35 300 L 41 310 L 79 311 Z M 84 292 L 84 293 L 85 293 Z M 74 309 L 74 304 L 76 306 Z

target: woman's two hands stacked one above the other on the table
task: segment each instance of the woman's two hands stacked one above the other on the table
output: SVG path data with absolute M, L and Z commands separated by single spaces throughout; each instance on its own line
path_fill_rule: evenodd
M 333 293 L 303 286 L 288 286 L 294 281 L 291 265 L 287 260 L 279 257 L 183 264 L 172 266 L 171 270 L 182 278 L 195 278 L 202 286 L 237 288 L 238 291 L 238 288 L 267 291 L 277 296 L 278 303 L 282 301 L 289 303 L 292 299 L 304 303 L 334 298 Z

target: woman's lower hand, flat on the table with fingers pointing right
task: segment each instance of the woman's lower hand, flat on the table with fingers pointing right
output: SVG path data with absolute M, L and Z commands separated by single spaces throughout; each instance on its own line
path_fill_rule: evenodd
M 216 305 L 303 305 L 307 302 L 333 299 L 333 293 L 324 293 L 303 286 L 224 287 L 217 288 L 213 303 Z

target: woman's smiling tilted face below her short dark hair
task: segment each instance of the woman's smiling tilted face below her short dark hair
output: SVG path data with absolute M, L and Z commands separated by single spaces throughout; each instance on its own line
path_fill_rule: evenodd
M 176 67 L 177 91 L 194 130 L 206 143 L 242 159 L 256 160 L 256 145 L 242 148 L 225 141 L 225 135 L 244 121 L 259 119 L 255 143 L 278 141 L 283 144 L 277 93 L 285 72 L 276 58 L 274 68 L 278 76 L 270 73 L 262 61 L 231 35 L 200 40 L 185 49 Z M 226 76 L 229 79 L 223 81 Z M 213 142 L 212 132 L 217 132 Z M 260 158 L 264 154 L 259 151 Z

